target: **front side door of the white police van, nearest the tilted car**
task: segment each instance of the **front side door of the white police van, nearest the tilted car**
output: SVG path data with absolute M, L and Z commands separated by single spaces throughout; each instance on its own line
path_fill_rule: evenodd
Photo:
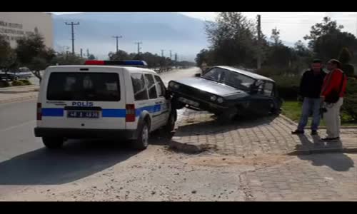
M 161 105 L 160 116 L 159 116 L 160 126 L 164 126 L 169 120 L 171 101 L 170 99 L 166 99 L 166 88 L 160 76 L 154 75 L 154 77 L 155 77 L 156 90 L 158 92 L 158 101 L 160 102 Z

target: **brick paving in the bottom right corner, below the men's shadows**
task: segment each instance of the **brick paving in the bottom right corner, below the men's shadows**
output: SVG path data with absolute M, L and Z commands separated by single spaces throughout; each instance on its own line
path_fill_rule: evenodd
M 357 200 L 356 154 L 298 158 L 242 173 L 246 200 Z

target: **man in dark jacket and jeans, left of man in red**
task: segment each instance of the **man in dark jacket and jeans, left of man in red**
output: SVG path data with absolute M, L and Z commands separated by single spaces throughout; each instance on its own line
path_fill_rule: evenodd
M 311 123 L 311 135 L 317 134 L 318 126 L 320 125 L 320 107 L 321 107 L 321 88 L 323 84 L 323 78 L 326 73 L 322 70 L 322 61 L 314 60 L 311 69 L 303 73 L 303 77 L 300 82 L 300 95 L 303 97 L 303 108 L 301 112 L 300 122 L 296 131 L 292 131 L 292 134 L 302 134 L 303 129 L 308 123 L 308 116 L 310 112 L 313 113 L 313 121 Z

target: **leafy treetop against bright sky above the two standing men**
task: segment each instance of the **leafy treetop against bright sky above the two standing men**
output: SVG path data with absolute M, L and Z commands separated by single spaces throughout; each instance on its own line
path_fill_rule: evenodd
M 321 23 L 311 26 L 310 35 L 304 36 L 303 39 L 308 40 L 308 47 L 313 49 L 319 37 L 341 32 L 342 29 L 343 25 L 337 25 L 336 21 L 331 21 L 331 18 L 326 16 L 323 17 L 323 21 Z

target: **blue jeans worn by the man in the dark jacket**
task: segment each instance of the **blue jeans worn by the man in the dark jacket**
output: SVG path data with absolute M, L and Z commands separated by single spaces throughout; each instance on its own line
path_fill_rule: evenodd
M 300 122 L 298 123 L 299 131 L 303 131 L 303 128 L 305 128 L 306 124 L 308 123 L 308 116 L 310 116 L 311 112 L 313 113 L 311 130 L 317 131 L 321 119 L 320 107 L 321 98 L 303 98 L 303 109 L 301 113 Z

